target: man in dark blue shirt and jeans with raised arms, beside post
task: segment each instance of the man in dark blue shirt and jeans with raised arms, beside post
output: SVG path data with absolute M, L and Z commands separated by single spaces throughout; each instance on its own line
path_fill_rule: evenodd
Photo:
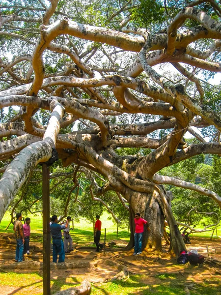
M 61 238 L 61 230 L 64 230 L 67 226 L 57 224 L 57 216 L 52 216 L 52 224 L 50 230 L 52 234 L 53 244 L 53 262 L 57 262 L 57 254 L 59 254 L 58 262 L 64 262 L 64 243 Z

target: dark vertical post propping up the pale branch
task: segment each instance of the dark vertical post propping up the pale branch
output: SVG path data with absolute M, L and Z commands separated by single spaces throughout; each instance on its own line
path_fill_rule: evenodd
M 43 295 L 51 295 L 50 265 L 50 182 L 49 167 L 42 164 L 42 207 L 43 207 Z

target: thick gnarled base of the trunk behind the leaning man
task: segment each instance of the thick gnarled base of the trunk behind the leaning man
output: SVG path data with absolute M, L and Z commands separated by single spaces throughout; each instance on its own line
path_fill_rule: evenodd
M 179 228 L 173 217 L 170 204 L 169 193 L 166 193 L 163 186 L 156 186 L 156 191 L 146 193 L 133 192 L 130 195 L 130 241 L 125 250 L 134 247 L 134 215 L 136 212 L 148 221 L 150 231 L 144 227 L 142 250 L 147 248 L 149 251 L 162 250 L 162 237 L 164 236 L 165 219 L 170 228 L 170 247 L 169 252 L 179 255 L 180 251 L 186 249 Z

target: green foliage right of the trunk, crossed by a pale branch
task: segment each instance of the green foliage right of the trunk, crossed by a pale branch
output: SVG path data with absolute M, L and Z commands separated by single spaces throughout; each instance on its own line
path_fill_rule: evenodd
M 189 140 L 189 142 L 191 141 Z M 219 194 L 220 191 L 218 187 L 220 185 L 221 161 L 219 161 L 219 157 L 216 157 L 216 159 L 217 158 L 217 162 L 214 161 L 212 165 L 208 165 L 204 163 L 206 162 L 205 155 L 201 154 L 170 167 L 166 167 L 161 170 L 161 174 L 195 183 L 201 187 L 216 191 Z M 215 178 L 218 179 L 218 183 L 216 183 Z M 204 227 L 218 221 L 216 214 L 207 215 L 205 213 L 196 212 L 216 212 L 220 215 L 220 209 L 217 203 L 211 198 L 191 190 L 171 185 L 166 185 L 166 189 L 171 190 L 173 194 L 171 203 L 176 220 L 192 226 L 198 225 L 198 227 Z M 196 210 L 192 210 L 193 208 Z

